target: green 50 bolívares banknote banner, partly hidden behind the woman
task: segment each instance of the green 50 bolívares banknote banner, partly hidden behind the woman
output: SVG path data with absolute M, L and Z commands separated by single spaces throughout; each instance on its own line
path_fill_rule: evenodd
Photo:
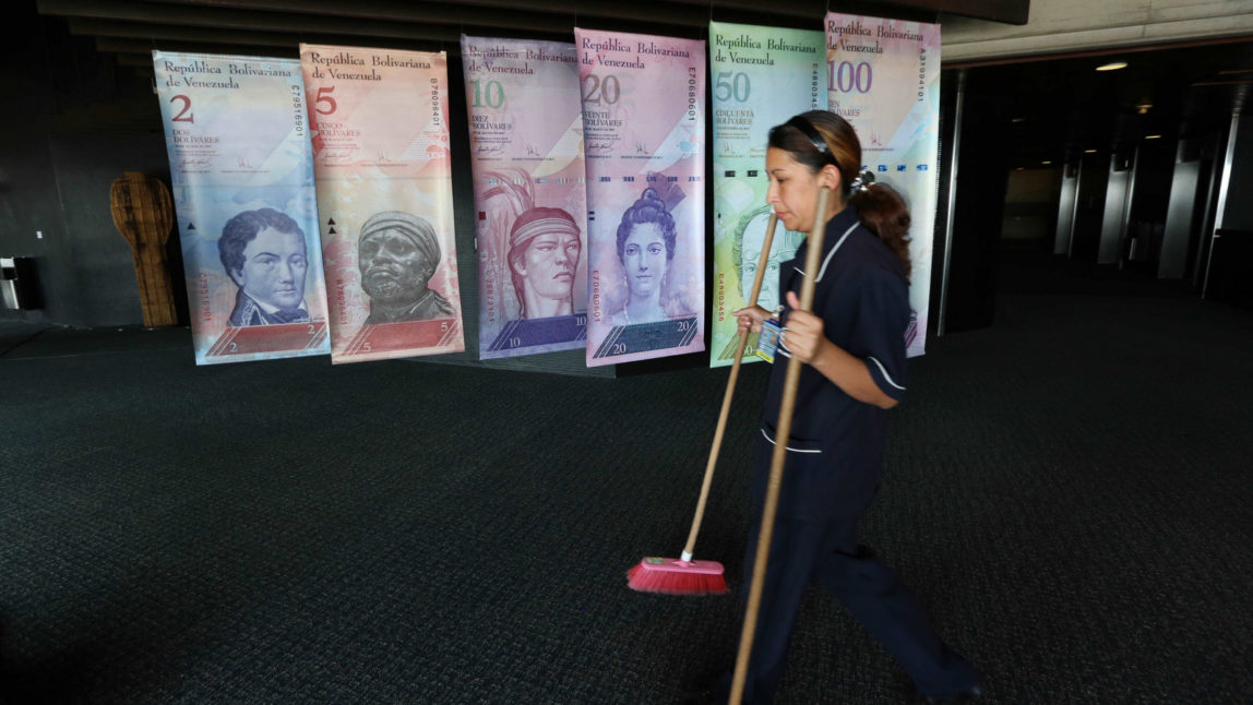
M 709 364 L 736 361 L 733 312 L 748 304 L 766 239 L 769 129 L 806 110 L 827 108 L 826 48 L 821 31 L 709 23 L 713 86 L 713 321 Z M 779 304 L 779 263 L 794 257 L 804 233 L 779 223 L 757 303 Z M 748 341 L 743 362 L 756 362 Z

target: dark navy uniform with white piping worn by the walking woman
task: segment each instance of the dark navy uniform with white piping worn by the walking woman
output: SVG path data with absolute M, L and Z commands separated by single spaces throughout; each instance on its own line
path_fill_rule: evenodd
M 905 329 L 908 284 L 896 254 L 863 228 L 850 207 L 827 223 L 822 263 L 803 272 L 808 243 L 779 270 L 779 291 L 796 292 L 816 275 L 813 311 L 826 337 L 862 358 L 888 397 L 905 394 Z M 787 326 L 787 312 L 782 323 Z M 784 336 L 786 343 L 786 336 Z M 974 667 L 950 651 L 931 629 L 917 600 L 896 575 L 857 545 L 857 518 L 878 488 L 887 412 L 858 402 L 813 367 L 801 368 L 791 437 L 776 437 L 788 351 L 781 346 L 771 371 L 762 428 L 754 447 L 753 531 L 744 560 L 752 581 L 757 527 L 774 443 L 787 443 L 778 518 L 767 562 L 762 612 L 744 697 L 769 702 L 783 676 L 788 636 L 808 582 L 831 590 L 927 695 L 970 690 Z

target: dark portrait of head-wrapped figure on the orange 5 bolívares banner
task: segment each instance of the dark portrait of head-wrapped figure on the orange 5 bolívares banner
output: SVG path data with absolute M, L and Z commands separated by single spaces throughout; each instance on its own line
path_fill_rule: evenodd
M 357 267 L 370 297 L 366 323 L 403 323 L 456 316 L 452 304 L 427 284 L 442 253 L 435 228 L 425 218 L 383 210 L 361 225 Z

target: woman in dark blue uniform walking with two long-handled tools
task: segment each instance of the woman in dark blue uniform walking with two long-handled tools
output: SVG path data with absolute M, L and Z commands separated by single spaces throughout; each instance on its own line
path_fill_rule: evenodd
M 932 630 L 896 575 L 857 543 L 857 520 L 875 498 L 883 465 L 887 409 L 907 386 L 905 331 L 910 323 L 910 214 L 895 190 L 871 184 L 861 169 L 852 126 L 832 113 L 798 115 L 769 134 L 767 200 L 782 225 L 808 232 L 817 194 L 832 190 L 821 267 L 803 272 L 808 243 L 779 272 L 787 306 L 736 312 L 741 329 L 778 313 L 783 327 L 754 447 L 753 527 L 774 443 L 787 445 L 778 518 L 767 562 L 746 702 L 769 702 L 783 676 L 788 636 L 809 581 L 833 592 L 908 671 L 923 701 L 961 702 L 980 695 L 974 666 Z M 794 311 L 804 277 L 816 277 L 813 313 Z M 787 358 L 804 363 L 789 438 L 774 428 Z M 752 532 L 744 561 L 751 581 Z

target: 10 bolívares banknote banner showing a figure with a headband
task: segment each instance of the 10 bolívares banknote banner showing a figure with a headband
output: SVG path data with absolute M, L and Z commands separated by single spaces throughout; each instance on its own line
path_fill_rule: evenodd
M 461 38 L 484 359 L 586 346 L 578 60 L 573 44 Z

